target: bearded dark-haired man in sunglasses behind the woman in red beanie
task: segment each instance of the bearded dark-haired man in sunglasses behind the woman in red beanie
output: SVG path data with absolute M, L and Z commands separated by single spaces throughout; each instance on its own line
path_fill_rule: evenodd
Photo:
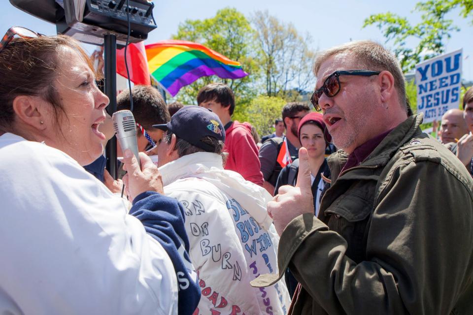
M 297 127 L 301 119 L 310 112 L 310 107 L 302 102 L 291 102 L 286 104 L 282 109 L 282 121 L 286 128 L 286 136 L 284 138 L 273 137 L 269 141 L 263 143 L 258 153 L 261 162 L 261 172 L 265 178 L 263 187 L 268 192 L 274 194 L 274 186 L 281 169 L 290 161 L 298 158 L 298 150 L 301 142 L 297 136 Z M 282 160 L 280 152 L 286 150 L 290 159 Z M 279 158 L 278 158 L 279 157 Z

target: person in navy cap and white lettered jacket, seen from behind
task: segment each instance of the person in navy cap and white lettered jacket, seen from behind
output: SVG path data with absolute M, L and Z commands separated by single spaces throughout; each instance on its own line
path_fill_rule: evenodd
M 207 108 L 188 105 L 168 124 L 154 127 L 165 131 L 156 148 L 163 190 L 183 206 L 188 258 L 201 286 L 218 287 L 228 301 L 244 301 L 220 303 L 222 314 L 232 313 L 235 303 L 245 314 L 262 314 L 268 307 L 274 314 L 283 314 L 291 301 L 284 281 L 265 288 L 265 296 L 255 296 L 250 286 L 254 277 L 248 276 L 253 270 L 277 266 L 272 244 L 279 237 L 266 211 L 271 196 L 239 173 L 224 169 L 225 129 L 218 116 Z M 210 314 L 214 309 L 215 303 L 203 290 L 197 313 Z

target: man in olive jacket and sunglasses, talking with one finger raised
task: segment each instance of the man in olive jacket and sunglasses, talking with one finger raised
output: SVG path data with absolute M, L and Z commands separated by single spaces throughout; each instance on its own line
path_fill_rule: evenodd
M 304 148 L 298 186 L 268 204 L 279 270 L 301 284 L 290 314 L 473 314 L 473 181 L 422 133 L 422 114 L 407 117 L 395 57 L 351 42 L 319 55 L 314 72 L 312 102 L 342 150 L 318 218 Z

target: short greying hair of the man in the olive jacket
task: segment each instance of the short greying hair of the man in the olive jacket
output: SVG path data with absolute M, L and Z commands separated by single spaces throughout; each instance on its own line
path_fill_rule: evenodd
M 399 61 L 389 50 L 371 40 L 358 40 L 332 47 L 319 53 L 315 59 L 313 71 L 317 76 L 322 63 L 332 56 L 347 54 L 354 56 L 360 70 L 389 71 L 394 77 L 394 86 L 398 91 L 399 101 L 407 111 L 405 96 L 405 78 Z M 345 69 L 343 69 L 345 70 Z M 358 70 L 358 69 L 346 69 Z

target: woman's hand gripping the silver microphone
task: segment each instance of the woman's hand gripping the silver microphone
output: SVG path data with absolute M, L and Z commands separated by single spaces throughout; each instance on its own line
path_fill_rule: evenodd
M 138 161 L 130 149 L 125 150 L 123 161 L 124 170 L 128 173 L 123 177 L 123 182 L 127 188 L 128 197 L 133 202 L 137 195 L 145 191 L 157 191 L 164 194 L 163 180 L 158 167 L 153 163 L 151 158 L 140 152 L 139 159 L 141 169 L 139 169 Z

